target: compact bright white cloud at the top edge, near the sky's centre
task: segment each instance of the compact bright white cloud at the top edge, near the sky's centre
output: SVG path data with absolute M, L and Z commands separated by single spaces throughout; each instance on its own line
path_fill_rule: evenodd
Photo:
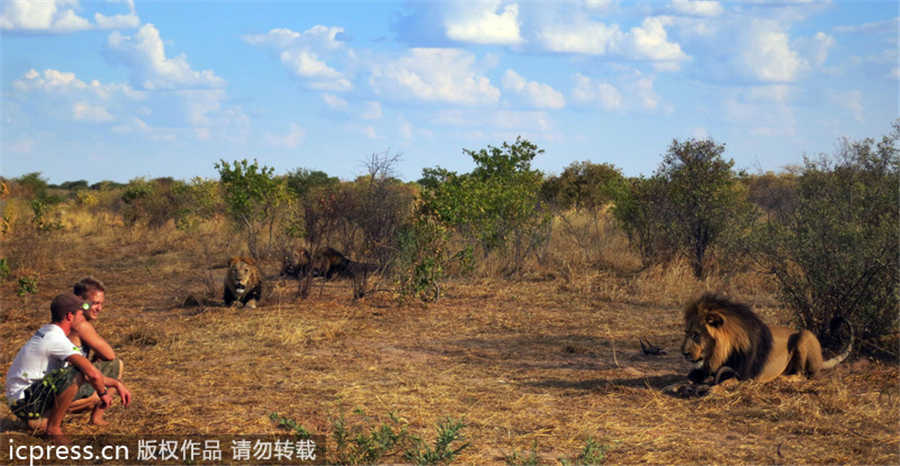
M 447 37 L 459 42 L 514 45 L 522 42 L 519 33 L 519 5 L 500 10 L 500 1 L 466 2 L 444 20 Z

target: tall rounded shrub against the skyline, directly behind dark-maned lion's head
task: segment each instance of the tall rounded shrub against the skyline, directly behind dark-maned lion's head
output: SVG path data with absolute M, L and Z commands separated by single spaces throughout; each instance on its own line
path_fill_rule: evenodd
M 712 140 L 673 141 L 653 177 L 617 201 L 614 213 L 645 263 L 682 255 L 701 278 L 711 248 L 728 249 L 751 224 L 754 210 L 724 151 Z

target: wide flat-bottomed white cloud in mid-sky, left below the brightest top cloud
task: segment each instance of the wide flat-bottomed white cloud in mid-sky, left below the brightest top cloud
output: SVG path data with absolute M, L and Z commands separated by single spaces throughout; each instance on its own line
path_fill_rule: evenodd
M 493 104 L 500 90 L 475 69 L 475 57 L 457 49 L 410 49 L 373 65 L 369 84 L 378 95 L 464 105 Z

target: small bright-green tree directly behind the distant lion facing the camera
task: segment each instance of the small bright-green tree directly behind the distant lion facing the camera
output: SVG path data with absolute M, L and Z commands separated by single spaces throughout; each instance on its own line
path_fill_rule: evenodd
M 220 160 L 219 171 L 228 218 L 238 231 L 247 235 L 247 248 L 254 258 L 261 256 L 259 236 L 268 232 L 272 245 L 277 222 L 277 208 L 285 200 L 283 180 L 273 176 L 274 168 L 259 166 L 243 159 L 229 164 Z

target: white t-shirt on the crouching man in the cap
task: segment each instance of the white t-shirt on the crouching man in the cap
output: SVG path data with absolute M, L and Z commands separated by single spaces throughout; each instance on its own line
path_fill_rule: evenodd
M 10 403 L 25 397 L 25 389 L 48 372 L 64 367 L 66 358 L 81 354 L 66 333 L 56 324 L 47 324 L 19 350 L 6 373 L 6 400 Z

